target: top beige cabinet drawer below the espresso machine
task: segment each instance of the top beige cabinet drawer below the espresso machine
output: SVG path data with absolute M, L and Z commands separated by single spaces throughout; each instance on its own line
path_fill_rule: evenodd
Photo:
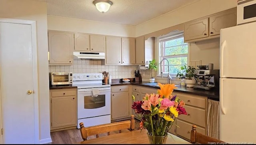
M 185 93 L 176 93 L 173 92 L 172 95 L 176 95 L 184 101 L 187 105 L 192 105 L 200 108 L 206 108 L 207 97 L 198 96 L 198 95 L 190 95 Z

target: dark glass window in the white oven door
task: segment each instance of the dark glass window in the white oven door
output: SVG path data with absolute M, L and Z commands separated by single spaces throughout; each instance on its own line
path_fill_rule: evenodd
M 84 109 L 94 109 L 104 107 L 106 105 L 105 95 L 84 96 Z

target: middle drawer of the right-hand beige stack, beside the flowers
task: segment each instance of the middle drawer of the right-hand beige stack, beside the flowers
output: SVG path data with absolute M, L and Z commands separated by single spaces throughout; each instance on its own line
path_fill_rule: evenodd
M 186 109 L 187 115 L 179 115 L 179 119 L 206 127 L 206 111 L 190 106 L 183 106 Z

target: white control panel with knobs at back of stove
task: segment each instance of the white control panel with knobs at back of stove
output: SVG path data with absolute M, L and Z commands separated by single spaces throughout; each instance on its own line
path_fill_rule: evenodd
M 102 73 L 73 73 L 73 81 L 102 80 Z

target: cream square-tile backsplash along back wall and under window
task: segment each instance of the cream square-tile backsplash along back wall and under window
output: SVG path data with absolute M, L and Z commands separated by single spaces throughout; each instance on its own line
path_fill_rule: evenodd
M 73 65 L 68 66 L 49 66 L 49 72 L 72 72 L 72 73 L 101 73 L 109 72 L 112 79 L 133 78 L 134 70 L 138 70 L 138 65 L 133 66 L 117 66 L 117 65 L 102 65 L 100 60 L 80 60 L 74 59 Z M 140 70 L 142 79 L 149 81 L 151 77 L 150 70 Z M 166 83 L 166 77 L 158 77 L 153 73 L 156 82 Z M 172 77 L 170 83 L 180 84 L 180 79 Z

